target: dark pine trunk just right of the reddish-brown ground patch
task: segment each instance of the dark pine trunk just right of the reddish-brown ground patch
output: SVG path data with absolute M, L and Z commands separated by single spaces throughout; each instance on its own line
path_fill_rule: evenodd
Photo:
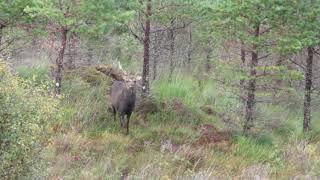
M 255 37 L 259 37 L 260 25 L 257 24 L 255 27 Z M 243 133 L 248 134 L 250 129 L 253 127 L 254 112 L 255 112 L 255 93 L 256 93 L 256 75 L 258 66 L 258 52 L 257 45 L 253 44 L 251 52 L 250 62 L 250 80 L 248 82 L 247 90 L 247 102 L 246 102 L 246 121 L 243 127 Z

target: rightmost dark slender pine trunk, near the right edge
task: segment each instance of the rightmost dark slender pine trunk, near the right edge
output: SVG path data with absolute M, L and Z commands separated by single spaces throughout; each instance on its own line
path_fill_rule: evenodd
M 305 71 L 304 107 L 303 107 L 303 131 L 311 130 L 311 87 L 312 87 L 313 48 L 308 47 L 307 67 Z

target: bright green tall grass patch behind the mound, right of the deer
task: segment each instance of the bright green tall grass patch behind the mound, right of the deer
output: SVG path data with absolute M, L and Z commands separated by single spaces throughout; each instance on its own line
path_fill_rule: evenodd
M 153 83 L 153 91 L 160 101 L 180 99 L 190 108 L 197 109 L 203 105 L 210 105 L 216 111 L 235 112 L 241 107 L 239 98 L 232 91 L 222 88 L 211 79 L 199 80 L 190 75 L 179 74 L 168 81 L 162 78 Z

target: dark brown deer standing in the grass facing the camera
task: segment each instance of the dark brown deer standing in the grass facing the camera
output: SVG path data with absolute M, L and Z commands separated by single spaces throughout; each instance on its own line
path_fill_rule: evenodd
M 111 87 L 111 104 L 116 120 L 116 114 L 119 114 L 122 128 L 126 128 L 129 133 L 129 120 L 136 101 L 135 81 L 123 82 L 115 81 Z

